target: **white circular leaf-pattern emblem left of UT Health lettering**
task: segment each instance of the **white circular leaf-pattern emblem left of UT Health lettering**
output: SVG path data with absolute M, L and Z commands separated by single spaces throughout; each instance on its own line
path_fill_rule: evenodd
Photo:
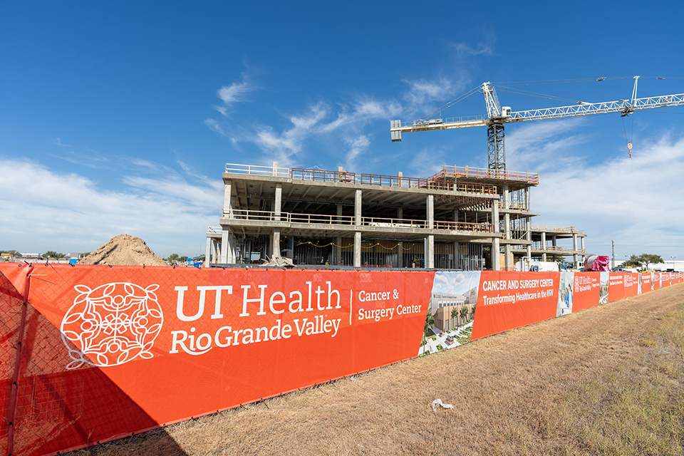
M 73 287 L 78 296 L 62 319 L 62 340 L 76 369 L 88 363 L 107 367 L 152 358 L 152 344 L 162 330 L 164 316 L 154 293 L 147 288 L 115 282 L 90 289 Z M 75 348 L 74 348 L 75 346 Z

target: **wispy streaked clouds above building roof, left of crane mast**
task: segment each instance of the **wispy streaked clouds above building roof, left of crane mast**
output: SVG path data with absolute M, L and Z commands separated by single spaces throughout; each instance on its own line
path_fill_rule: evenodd
M 487 53 L 492 45 L 490 43 L 487 46 L 489 48 L 479 44 L 470 54 Z M 449 45 L 446 47 L 450 48 Z M 333 155 L 338 162 L 351 165 L 363 154 L 363 150 L 372 147 L 373 132 L 380 125 L 386 130 L 391 119 L 424 115 L 428 110 L 447 103 L 464 90 L 470 81 L 470 73 L 457 66 L 448 69 L 440 66 L 434 73 L 436 76 L 432 77 L 404 78 L 405 90 L 396 97 L 347 93 L 346 100 L 336 103 L 328 100 L 307 103 L 301 110 L 289 110 L 281 114 L 284 120 L 281 125 L 258 125 L 253 119 L 249 123 L 229 123 L 221 118 L 208 118 L 204 123 L 219 135 L 228 138 L 237 150 L 240 150 L 240 145 L 256 146 L 261 154 L 253 158 L 255 162 L 276 160 L 281 166 L 301 165 L 302 160 L 323 145 L 327 155 Z M 249 94 L 256 90 L 256 86 L 251 84 L 248 68 L 242 81 L 219 89 L 217 95 L 224 103 L 223 108 L 249 99 Z M 222 112 L 225 113 L 224 110 Z M 365 138 L 363 147 L 360 144 L 353 145 L 349 139 L 361 137 Z M 432 169 L 418 162 L 415 162 L 414 167 Z

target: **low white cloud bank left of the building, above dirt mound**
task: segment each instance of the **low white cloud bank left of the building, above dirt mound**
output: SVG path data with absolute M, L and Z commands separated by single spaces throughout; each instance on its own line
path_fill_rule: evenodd
M 222 182 L 192 183 L 181 175 L 123 177 L 109 191 L 76 173 L 0 157 L 3 249 L 88 252 L 118 234 L 132 234 L 162 257 L 194 254 L 207 226 L 217 224 Z

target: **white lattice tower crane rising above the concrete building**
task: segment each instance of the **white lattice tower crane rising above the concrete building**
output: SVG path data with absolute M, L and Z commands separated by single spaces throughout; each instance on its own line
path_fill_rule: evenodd
M 604 79 L 605 78 L 598 78 L 598 81 L 603 81 Z M 621 116 L 624 117 L 636 110 L 684 105 L 684 93 L 636 98 L 638 81 L 639 76 L 634 76 L 634 88 L 629 100 L 605 101 L 602 103 L 584 103 L 579 101 L 577 105 L 572 106 L 516 112 L 512 112 L 510 106 L 502 107 L 499 105 L 497 90 L 492 83 L 486 82 L 477 88 L 477 90 L 484 95 L 484 103 L 487 107 L 487 113 L 484 116 L 478 115 L 470 118 L 450 118 L 445 121 L 441 118 L 440 113 L 440 118 L 413 120 L 410 125 L 401 125 L 401 120 L 390 120 L 392 141 L 400 141 L 402 133 L 413 131 L 487 127 L 487 157 L 489 161 L 489 170 L 505 171 L 506 147 L 504 124 L 525 122 L 527 120 L 557 119 L 575 117 L 578 115 L 605 113 L 621 113 Z

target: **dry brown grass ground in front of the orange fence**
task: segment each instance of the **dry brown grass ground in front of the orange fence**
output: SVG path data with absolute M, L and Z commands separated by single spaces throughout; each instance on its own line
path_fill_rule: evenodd
M 76 454 L 682 455 L 683 355 L 680 284 Z

